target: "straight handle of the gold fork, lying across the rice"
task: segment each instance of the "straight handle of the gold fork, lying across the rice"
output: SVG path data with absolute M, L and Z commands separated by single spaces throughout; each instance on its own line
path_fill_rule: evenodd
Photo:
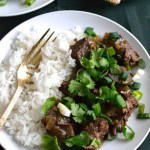
M 15 104 L 16 104 L 16 102 L 17 102 L 17 100 L 18 100 L 18 98 L 19 98 L 19 96 L 21 94 L 21 92 L 23 91 L 23 89 L 24 89 L 24 87 L 21 87 L 21 86 L 17 87 L 17 90 L 16 90 L 14 96 L 12 97 L 12 99 L 11 99 L 10 103 L 8 104 L 5 112 L 3 113 L 3 115 L 0 118 L 0 129 L 5 124 L 8 116 L 10 115 L 12 109 L 14 108 L 14 106 L 15 106 Z

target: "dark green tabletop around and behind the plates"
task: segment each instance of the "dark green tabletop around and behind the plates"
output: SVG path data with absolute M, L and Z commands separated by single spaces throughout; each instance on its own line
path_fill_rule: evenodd
M 52 4 L 26 15 L 0 17 L 0 40 L 25 20 L 57 10 L 82 10 L 110 18 L 134 34 L 150 54 L 150 0 L 122 0 L 117 6 L 106 4 L 103 0 L 55 0 Z M 150 134 L 138 150 L 150 150 Z

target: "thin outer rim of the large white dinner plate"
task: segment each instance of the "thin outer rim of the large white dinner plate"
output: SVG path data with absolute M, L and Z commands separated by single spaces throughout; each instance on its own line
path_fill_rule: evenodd
M 53 0 L 54 1 L 54 0 Z M 106 21 L 109 21 L 117 26 L 119 26 L 121 29 L 125 30 L 125 32 L 127 32 L 141 47 L 142 49 L 144 50 L 145 54 L 147 55 L 148 59 L 150 60 L 150 54 L 148 53 L 148 51 L 145 49 L 145 47 L 143 46 L 143 44 L 135 37 L 135 35 L 133 35 L 128 29 L 126 29 L 125 27 L 123 27 L 122 25 L 120 25 L 119 23 L 107 18 L 107 17 L 104 17 L 102 15 L 99 15 L 99 14 L 95 14 L 95 13 L 91 13 L 91 12 L 87 12 L 87 11 L 80 11 L 80 10 L 59 10 L 59 11 L 52 11 L 52 12 L 48 12 L 48 13 L 44 13 L 44 14 L 40 14 L 40 15 L 37 15 L 35 17 L 32 17 L 26 21 L 23 21 L 22 23 L 18 24 L 16 27 L 12 28 L 4 37 L 2 37 L 2 39 L 0 40 L 0 44 L 1 44 L 1 41 L 4 40 L 5 38 L 7 38 L 7 36 L 9 36 L 9 34 L 11 34 L 12 32 L 14 32 L 14 30 L 16 30 L 17 28 L 19 28 L 20 26 L 22 26 L 23 24 L 27 23 L 27 22 L 31 22 L 32 20 L 38 18 L 38 17 L 41 17 L 41 16 L 45 16 L 45 15 L 49 15 L 49 14 L 59 14 L 59 13 L 81 13 L 81 14 L 86 14 L 86 15 L 92 15 L 92 16 L 96 16 L 96 17 L 99 17 L 99 18 L 102 18 Z M 150 126 L 145 134 L 145 136 L 142 138 L 142 140 L 139 142 L 138 145 L 135 146 L 134 150 L 136 150 L 143 142 L 144 140 L 146 139 L 146 137 L 148 136 L 148 134 L 150 133 Z M 0 145 L 6 149 L 1 141 L 0 141 Z

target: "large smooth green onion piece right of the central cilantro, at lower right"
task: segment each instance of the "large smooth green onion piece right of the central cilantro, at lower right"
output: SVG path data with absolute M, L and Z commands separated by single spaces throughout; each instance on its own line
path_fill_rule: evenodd
M 117 107 L 119 108 L 124 108 L 126 107 L 126 102 L 125 100 L 123 99 L 123 97 L 119 94 L 116 94 L 115 95 L 115 100 L 114 100 L 114 103 Z

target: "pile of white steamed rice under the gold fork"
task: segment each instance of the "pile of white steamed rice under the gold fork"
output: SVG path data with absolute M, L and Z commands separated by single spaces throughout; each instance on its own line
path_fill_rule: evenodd
M 10 59 L 0 64 L 0 116 L 17 88 L 16 73 L 24 54 L 42 33 L 38 28 L 19 32 L 11 44 L 13 53 Z M 33 84 L 26 85 L 5 123 L 8 133 L 27 148 L 40 146 L 45 133 L 41 123 L 41 106 L 48 97 L 61 98 L 58 88 L 75 67 L 70 45 L 74 44 L 74 39 L 82 37 L 82 29 L 76 26 L 73 30 L 57 33 L 56 41 L 49 41 L 42 48 L 42 61 L 31 78 Z

